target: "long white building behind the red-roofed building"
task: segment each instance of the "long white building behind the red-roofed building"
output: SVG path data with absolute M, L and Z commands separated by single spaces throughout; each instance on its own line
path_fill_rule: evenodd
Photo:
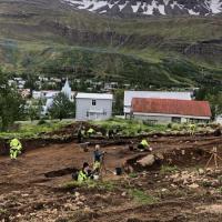
M 191 92 L 172 91 L 124 91 L 124 115 L 130 117 L 131 103 L 133 98 L 157 98 L 157 99 L 178 99 L 192 100 Z

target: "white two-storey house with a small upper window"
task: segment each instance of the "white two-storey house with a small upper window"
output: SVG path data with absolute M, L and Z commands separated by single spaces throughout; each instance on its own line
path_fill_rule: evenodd
M 107 93 L 78 93 L 77 120 L 107 120 L 112 115 L 113 95 Z

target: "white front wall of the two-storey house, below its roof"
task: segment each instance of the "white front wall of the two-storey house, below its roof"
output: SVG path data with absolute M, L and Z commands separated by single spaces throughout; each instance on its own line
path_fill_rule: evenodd
M 107 120 L 112 117 L 112 100 L 95 99 L 97 104 L 92 105 L 92 99 L 75 99 L 77 120 Z M 87 115 L 89 111 L 94 111 L 93 115 Z M 105 114 L 103 114 L 105 112 Z

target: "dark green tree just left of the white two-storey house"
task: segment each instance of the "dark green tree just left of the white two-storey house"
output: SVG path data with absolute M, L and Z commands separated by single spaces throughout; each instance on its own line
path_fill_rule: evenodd
M 53 119 L 64 119 L 74 117 L 74 103 L 64 93 L 59 93 L 49 109 L 49 114 Z

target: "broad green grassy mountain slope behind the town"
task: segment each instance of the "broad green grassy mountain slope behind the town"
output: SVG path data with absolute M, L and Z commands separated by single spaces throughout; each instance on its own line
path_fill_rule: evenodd
M 221 38 L 221 17 L 120 20 L 61 6 L 0 6 L 0 63 L 8 71 L 181 87 L 194 85 L 203 65 L 221 79 L 221 58 L 185 58 L 165 48 Z

